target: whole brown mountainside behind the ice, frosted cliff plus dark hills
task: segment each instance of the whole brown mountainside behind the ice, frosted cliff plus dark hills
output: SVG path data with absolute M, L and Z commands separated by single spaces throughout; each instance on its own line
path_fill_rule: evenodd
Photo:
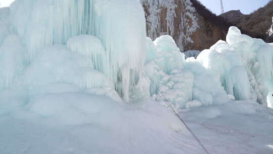
M 147 35 L 155 38 L 168 34 L 180 51 L 210 48 L 225 40 L 230 26 L 242 33 L 272 42 L 273 1 L 257 11 L 244 15 L 237 11 L 216 16 L 197 0 L 140 0 L 146 12 Z

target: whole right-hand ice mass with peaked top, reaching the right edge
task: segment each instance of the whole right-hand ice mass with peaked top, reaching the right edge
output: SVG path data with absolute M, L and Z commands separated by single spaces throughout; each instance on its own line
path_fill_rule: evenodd
M 267 88 L 273 74 L 273 48 L 260 39 L 230 27 L 226 42 L 218 41 L 197 57 L 204 67 L 220 76 L 221 84 L 236 99 L 253 99 L 267 105 Z M 270 99 L 267 99 L 270 103 Z

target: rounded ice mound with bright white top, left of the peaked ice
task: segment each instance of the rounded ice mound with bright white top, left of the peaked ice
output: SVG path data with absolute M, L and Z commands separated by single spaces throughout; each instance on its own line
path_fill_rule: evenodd
M 220 76 L 222 86 L 228 94 L 239 100 L 250 99 L 247 71 L 240 64 L 240 55 L 232 50 L 231 46 L 220 41 L 211 49 L 201 52 L 197 60 L 206 69 Z

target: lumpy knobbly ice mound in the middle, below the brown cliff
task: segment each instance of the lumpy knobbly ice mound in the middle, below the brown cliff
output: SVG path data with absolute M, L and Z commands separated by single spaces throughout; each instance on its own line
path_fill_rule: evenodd
M 176 109 L 221 104 L 229 100 L 217 74 L 207 71 L 195 59 L 186 61 L 171 36 L 161 36 L 154 42 L 148 38 L 146 46 L 145 68 L 151 79 L 150 94 L 155 100 L 161 102 L 164 97 Z

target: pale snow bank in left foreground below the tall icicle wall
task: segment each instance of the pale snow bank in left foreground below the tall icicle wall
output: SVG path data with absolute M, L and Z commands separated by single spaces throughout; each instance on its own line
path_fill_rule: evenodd
M 193 142 L 179 119 L 154 101 L 135 107 L 82 92 L 25 99 L 12 93 L 0 92 L 0 100 L 13 98 L 5 105 L 0 101 L 5 106 L 0 108 L 4 153 L 177 153 L 184 141 Z M 181 135 L 177 144 L 167 144 Z

